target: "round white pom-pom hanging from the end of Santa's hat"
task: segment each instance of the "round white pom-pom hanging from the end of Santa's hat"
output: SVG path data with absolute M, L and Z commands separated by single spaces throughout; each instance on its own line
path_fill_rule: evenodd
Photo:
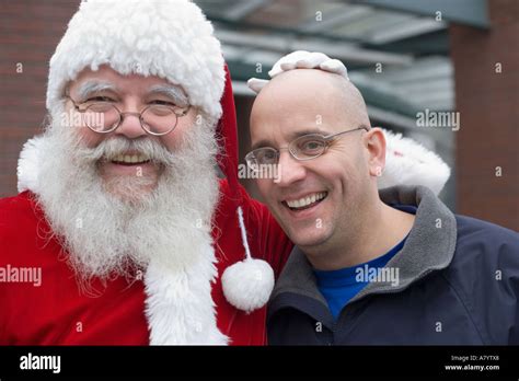
M 274 288 L 274 272 L 265 261 L 246 258 L 226 268 L 221 285 L 229 303 L 249 313 L 267 303 Z

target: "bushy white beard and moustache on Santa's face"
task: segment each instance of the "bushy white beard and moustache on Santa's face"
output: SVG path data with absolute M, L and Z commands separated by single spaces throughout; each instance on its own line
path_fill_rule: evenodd
M 135 278 L 151 262 L 182 272 L 200 261 L 211 242 L 219 195 L 214 125 L 207 119 L 193 125 L 174 152 L 149 138 L 140 142 L 113 138 L 89 149 L 73 128 L 59 122 L 50 125 L 41 154 L 37 197 L 82 287 L 94 277 Z M 137 193 L 130 201 L 106 192 L 96 168 L 106 152 L 129 147 L 163 166 L 157 187 Z M 147 185 L 137 176 L 116 182 L 111 186 L 128 194 Z

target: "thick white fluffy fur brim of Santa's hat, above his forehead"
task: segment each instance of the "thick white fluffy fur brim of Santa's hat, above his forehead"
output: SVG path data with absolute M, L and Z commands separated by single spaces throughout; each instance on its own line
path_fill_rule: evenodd
M 180 84 L 189 103 L 221 116 L 221 46 L 201 10 L 188 0 L 88 0 L 69 22 L 50 59 L 47 109 L 84 68 L 108 64 L 122 74 L 158 76 Z

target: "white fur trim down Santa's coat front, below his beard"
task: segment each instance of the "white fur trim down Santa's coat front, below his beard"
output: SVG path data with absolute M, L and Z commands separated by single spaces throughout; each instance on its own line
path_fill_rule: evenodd
M 227 345 L 229 338 L 217 327 L 211 284 L 217 276 L 209 238 L 200 261 L 186 268 L 148 266 L 146 315 L 151 345 Z M 199 247 L 199 244 L 195 244 Z

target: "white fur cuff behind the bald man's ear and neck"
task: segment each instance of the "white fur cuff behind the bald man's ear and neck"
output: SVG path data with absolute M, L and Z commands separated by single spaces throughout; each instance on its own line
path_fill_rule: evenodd
M 385 168 L 379 189 L 395 185 L 423 185 L 438 195 L 450 176 L 450 168 L 435 152 L 416 141 L 384 130 Z

